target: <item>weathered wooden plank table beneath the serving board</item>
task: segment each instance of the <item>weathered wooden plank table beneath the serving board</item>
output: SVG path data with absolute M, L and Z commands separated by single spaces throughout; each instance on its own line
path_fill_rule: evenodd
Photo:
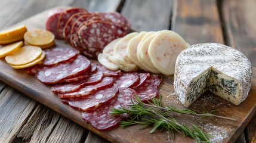
M 171 29 L 190 44 L 224 43 L 256 67 L 255 0 L 2 0 L 0 30 L 59 5 L 118 11 L 133 29 Z M 0 142 L 107 141 L 0 81 Z M 236 142 L 256 142 L 256 116 Z

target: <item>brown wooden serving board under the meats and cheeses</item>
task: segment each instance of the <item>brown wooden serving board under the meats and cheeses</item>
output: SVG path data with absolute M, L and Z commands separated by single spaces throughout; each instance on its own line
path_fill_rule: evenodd
M 48 11 L 50 10 L 39 13 L 27 20 L 17 23 L 16 25 L 25 24 L 27 29 L 44 29 Z M 64 41 L 58 40 L 56 40 L 56 43 L 67 44 Z M 196 122 L 195 120 L 198 119 L 197 117 L 184 116 L 180 114 L 174 114 L 175 119 L 177 119 L 178 122 L 184 122 L 187 125 L 194 123 L 202 126 L 205 132 L 213 135 L 211 141 L 235 142 L 236 138 L 238 138 L 242 130 L 256 113 L 255 74 L 256 68 L 253 68 L 251 91 L 249 92 L 246 100 L 240 105 L 236 106 L 230 104 L 230 102 L 211 94 L 211 92 L 206 92 L 201 98 L 199 98 L 199 100 L 189 107 L 190 110 L 195 111 L 202 111 L 203 108 L 208 111 L 217 110 L 216 114 L 232 117 L 235 121 L 209 117 Z M 184 108 L 180 101 L 178 101 L 177 96 L 174 94 L 173 76 L 162 76 L 162 78 L 163 82 L 159 88 L 159 93 L 163 95 L 163 104 L 171 105 L 176 108 Z M 140 126 L 137 125 L 130 126 L 128 128 L 118 127 L 106 131 L 96 130 L 90 125 L 84 123 L 80 111 L 69 107 L 69 105 L 63 104 L 60 99 L 51 92 L 50 86 L 44 85 L 39 82 L 36 77 L 28 75 L 23 70 L 12 69 L 3 59 L 0 60 L 0 80 L 111 142 L 195 142 L 191 138 L 184 138 L 184 136 L 179 133 L 175 133 L 175 139 L 167 132 L 156 132 L 150 134 L 149 131 L 151 128 L 140 130 L 138 129 Z

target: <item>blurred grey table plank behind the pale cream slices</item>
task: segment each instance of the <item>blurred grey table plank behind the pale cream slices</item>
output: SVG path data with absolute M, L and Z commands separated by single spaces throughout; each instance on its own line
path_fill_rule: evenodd
M 125 1 L 121 13 L 132 23 L 135 30 L 169 29 L 172 1 L 141 0 Z

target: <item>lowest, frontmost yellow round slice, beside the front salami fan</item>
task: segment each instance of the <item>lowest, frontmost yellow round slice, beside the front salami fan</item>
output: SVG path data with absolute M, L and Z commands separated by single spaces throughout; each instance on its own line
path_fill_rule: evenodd
M 42 49 L 38 46 L 23 46 L 13 54 L 7 55 L 5 61 L 13 66 L 21 66 L 30 63 L 42 55 Z

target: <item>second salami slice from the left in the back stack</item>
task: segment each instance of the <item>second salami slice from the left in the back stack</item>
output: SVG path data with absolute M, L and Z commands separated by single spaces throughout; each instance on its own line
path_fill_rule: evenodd
M 58 37 L 63 39 L 63 28 L 69 18 L 79 12 L 88 12 L 84 8 L 70 8 L 69 10 L 63 11 L 60 16 L 58 17 L 58 24 L 57 24 L 57 29 L 58 29 Z

